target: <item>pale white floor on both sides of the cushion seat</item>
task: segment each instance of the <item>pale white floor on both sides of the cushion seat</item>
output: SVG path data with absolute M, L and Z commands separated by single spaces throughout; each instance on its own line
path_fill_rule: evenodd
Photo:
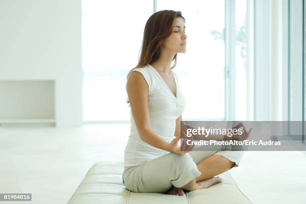
M 66 203 L 95 162 L 123 161 L 128 132 L 128 123 L 1 127 L 0 193 L 32 193 L 31 204 Z M 306 203 L 305 151 L 245 151 L 229 173 L 252 203 Z M 26 203 L 5 203 L 19 202 Z

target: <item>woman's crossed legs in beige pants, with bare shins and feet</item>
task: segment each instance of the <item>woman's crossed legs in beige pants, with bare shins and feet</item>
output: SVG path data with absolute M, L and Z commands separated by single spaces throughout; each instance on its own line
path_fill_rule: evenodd
M 226 167 L 229 160 L 224 162 L 222 156 L 230 162 L 234 161 L 232 164 L 239 165 L 241 156 L 233 151 L 194 150 L 183 155 L 169 152 L 140 165 L 128 167 L 122 174 L 122 181 L 133 192 L 166 193 L 173 185 L 177 187 L 175 194 L 181 194 L 183 189 L 205 188 L 221 182 L 218 177 L 207 177 L 229 169 L 230 166 Z

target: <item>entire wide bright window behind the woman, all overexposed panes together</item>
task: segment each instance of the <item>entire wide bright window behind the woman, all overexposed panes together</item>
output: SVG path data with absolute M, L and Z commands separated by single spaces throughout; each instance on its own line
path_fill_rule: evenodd
M 246 0 L 82 0 L 83 120 L 126 121 L 126 74 L 138 61 L 143 29 L 153 11 L 180 10 L 185 17 L 186 53 L 177 54 L 173 71 L 186 99 L 185 120 L 223 120 L 226 109 L 236 109 L 238 119 L 246 115 L 245 36 Z M 137 5 L 137 6 L 134 6 Z M 225 79 L 224 35 L 226 6 L 235 6 L 236 52 L 231 70 L 239 86 L 234 102 L 226 105 L 229 92 Z M 141 8 L 141 9 L 139 9 Z M 155 10 L 153 10 L 155 9 Z M 228 10 L 228 9 L 227 9 Z M 231 11 L 230 11 L 231 12 Z M 234 35 L 233 33 L 231 35 Z M 235 70 L 236 66 L 236 71 Z M 241 87 L 242 89 L 241 91 Z M 246 88 L 245 88 L 246 87 Z M 235 103 L 236 102 L 236 103 Z M 235 105 L 236 104 L 236 105 Z M 228 118 L 228 117 L 227 117 Z

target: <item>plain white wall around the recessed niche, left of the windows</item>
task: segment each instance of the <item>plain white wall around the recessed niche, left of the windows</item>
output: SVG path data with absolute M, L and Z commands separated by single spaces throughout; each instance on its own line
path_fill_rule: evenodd
M 81 0 L 0 0 L 0 80 L 7 79 L 54 79 L 56 126 L 81 125 Z

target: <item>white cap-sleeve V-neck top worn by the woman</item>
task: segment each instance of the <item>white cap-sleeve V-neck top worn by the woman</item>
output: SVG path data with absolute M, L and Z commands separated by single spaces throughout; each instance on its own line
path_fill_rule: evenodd
M 181 115 L 186 104 L 179 89 L 176 73 L 172 71 L 176 84 L 175 97 L 157 70 L 150 64 L 132 71 L 139 71 L 149 87 L 148 110 L 151 130 L 163 140 L 170 142 L 174 137 L 175 120 Z M 124 166 L 139 165 L 166 153 L 169 152 L 156 148 L 140 138 L 130 110 L 130 133 L 124 149 Z

